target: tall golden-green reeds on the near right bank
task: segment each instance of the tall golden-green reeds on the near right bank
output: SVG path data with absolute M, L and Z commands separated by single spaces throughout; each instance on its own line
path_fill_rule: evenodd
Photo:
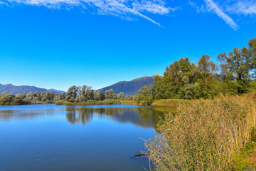
M 155 170 L 234 170 L 256 125 L 256 92 L 181 103 L 146 147 Z

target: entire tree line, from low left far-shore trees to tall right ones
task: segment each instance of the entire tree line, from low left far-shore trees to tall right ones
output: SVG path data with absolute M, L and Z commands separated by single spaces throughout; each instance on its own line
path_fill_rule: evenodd
M 164 76 L 156 76 L 152 86 L 144 86 L 139 95 L 116 94 L 114 90 L 92 90 L 90 86 L 71 86 L 67 93 L 35 92 L 12 95 L 0 93 L 0 105 L 39 103 L 118 104 L 122 100 L 137 100 L 150 105 L 159 99 L 198 99 L 223 95 L 240 95 L 256 88 L 256 38 L 250 39 L 247 47 L 233 48 L 229 53 L 220 53 L 218 63 L 203 55 L 197 63 L 189 58 L 180 58 L 166 67 Z M 86 103 L 87 102 L 87 103 Z

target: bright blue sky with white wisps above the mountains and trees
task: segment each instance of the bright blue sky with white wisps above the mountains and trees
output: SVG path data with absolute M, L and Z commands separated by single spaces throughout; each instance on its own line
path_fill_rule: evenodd
M 247 46 L 252 0 L 0 0 L 0 83 L 68 90 Z

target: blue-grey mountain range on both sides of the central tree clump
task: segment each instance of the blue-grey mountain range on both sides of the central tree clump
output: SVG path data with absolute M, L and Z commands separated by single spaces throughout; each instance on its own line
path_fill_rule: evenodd
M 161 76 L 161 75 L 154 75 L 154 76 L 144 76 L 140 78 L 136 78 L 132 81 L 120 81 L 118 83 L 114 83 L 111 86 L 107 86 L 105 88 L 101 88 L 99 90 L 110 90 L 113 89 L 114 93 L 120 93 L 123 92 L 124 95 L 134 95 L 139 93 L 139 90 L 143 86 L 151 86 L 154 82 L 155 76 Z M 14 86 L 12 84 L 1 84 L 0 83 L 0 93 L 12 93 L 12 94 L 18 94 L 18 93 L 29 93 L 29 92 L 47 92 L 47 91 L 53 91 L 55 93 L 63 93 L 62 90 L 55 90 L 55 89 L 46 89 L 46 88 L 38 88 L 35 86 Z

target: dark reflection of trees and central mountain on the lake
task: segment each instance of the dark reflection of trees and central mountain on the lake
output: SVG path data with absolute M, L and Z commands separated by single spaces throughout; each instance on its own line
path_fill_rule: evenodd
M 159 108 L 67 108 L 69 123 L 86 125 L 94 117 L 110 118 L 119 123 L 132 123 L 143 128 L 155 128 L 163 116 Z

